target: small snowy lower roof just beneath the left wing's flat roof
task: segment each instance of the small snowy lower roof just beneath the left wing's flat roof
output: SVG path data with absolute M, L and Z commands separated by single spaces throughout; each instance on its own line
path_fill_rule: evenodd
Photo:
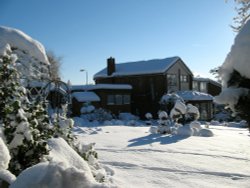
M 75 98 L 78 102 L 98 102 L 100 97 L 94 92 L 84 91 L 84 92 L 74 92 L 72 93 L 72 98 Z

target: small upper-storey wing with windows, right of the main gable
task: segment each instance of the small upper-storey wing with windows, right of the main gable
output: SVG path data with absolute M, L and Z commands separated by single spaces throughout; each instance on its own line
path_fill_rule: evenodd
M 221 84 L 209 78 L 194 77 L 193 90 L 208 93 L 212 96 L 219 95 L 221 92 Z

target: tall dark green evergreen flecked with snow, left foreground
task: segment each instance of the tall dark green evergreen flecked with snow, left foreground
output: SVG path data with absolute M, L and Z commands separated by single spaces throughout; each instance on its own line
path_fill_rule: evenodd
M 11 154 L 9 170 L 18 175 L 43 160 L 49 150 L 37 114 L 30 111 L 32 103 L 20 84 L 15 61 L 13 55 L 0 56 L 0 115 Z

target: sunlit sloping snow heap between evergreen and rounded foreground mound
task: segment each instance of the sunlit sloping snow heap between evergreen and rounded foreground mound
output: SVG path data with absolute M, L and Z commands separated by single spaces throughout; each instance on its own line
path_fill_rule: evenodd
M 49 156 L 51 157 L 51 161 L 63 162 L 67 166 L 83 170 L 87 176 L 91 177 L 91 181 L 94 181 L 88 163 L 84 161 L 64 139 L 51 138 L 48 140 L 48 145 L 50 147 Z

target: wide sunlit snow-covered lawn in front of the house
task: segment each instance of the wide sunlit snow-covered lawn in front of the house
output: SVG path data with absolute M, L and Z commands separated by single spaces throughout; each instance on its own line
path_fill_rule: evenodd
M 213 137 L 150 134 L 147 126 L 77 127 L 96 142 L 100 163 L 119 187 L 249 187 L 247 129 L 212 126 Z

